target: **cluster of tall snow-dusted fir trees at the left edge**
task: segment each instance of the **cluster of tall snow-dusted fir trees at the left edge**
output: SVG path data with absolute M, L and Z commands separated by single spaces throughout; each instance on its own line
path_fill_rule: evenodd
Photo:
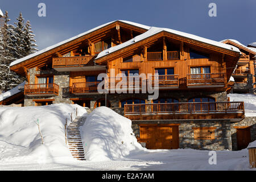
M 22 13 L 16 19 L 15 26 L 9 24 L 8 12 L 4 15 L 5 24 L 1 28 L 0 38 L 0 89 L 7 91 L 21 82 L 24 77 L 18 76 L 9 70 L 9 65 L 14 60 L 20 59 L 37 51 L 31 25 L 28 21 L 24 25 Z

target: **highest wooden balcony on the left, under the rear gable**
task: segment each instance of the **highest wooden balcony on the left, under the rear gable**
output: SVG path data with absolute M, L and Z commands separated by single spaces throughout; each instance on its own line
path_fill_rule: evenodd
M 94 67 L 95 57 L 96 56 L 53 57 L 52 68 L 56 69 L 58 72 L 105 70 L 105 68 Z

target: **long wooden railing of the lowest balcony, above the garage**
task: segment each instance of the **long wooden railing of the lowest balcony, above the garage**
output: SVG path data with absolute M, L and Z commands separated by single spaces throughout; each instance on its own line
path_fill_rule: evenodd
M 179 102 L 125 105 L 125 115 L 168 113 L 244 113 L 244 111 L 243 102 Z

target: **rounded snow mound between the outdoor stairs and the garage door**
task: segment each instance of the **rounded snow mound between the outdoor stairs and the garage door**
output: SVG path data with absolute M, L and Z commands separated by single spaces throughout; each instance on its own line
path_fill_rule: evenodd
M 81 128 L 85 158 L 90 161 L 122 159 L 143 151 L 131 129 L 131 120 L 108 107 L 98 107 Z

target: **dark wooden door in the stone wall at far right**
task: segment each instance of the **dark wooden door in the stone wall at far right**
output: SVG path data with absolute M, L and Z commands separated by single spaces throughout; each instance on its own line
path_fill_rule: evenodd
M 242 150 L 246 148 L 251 142 L 250 127 L 237 128 L 237 149 Z

